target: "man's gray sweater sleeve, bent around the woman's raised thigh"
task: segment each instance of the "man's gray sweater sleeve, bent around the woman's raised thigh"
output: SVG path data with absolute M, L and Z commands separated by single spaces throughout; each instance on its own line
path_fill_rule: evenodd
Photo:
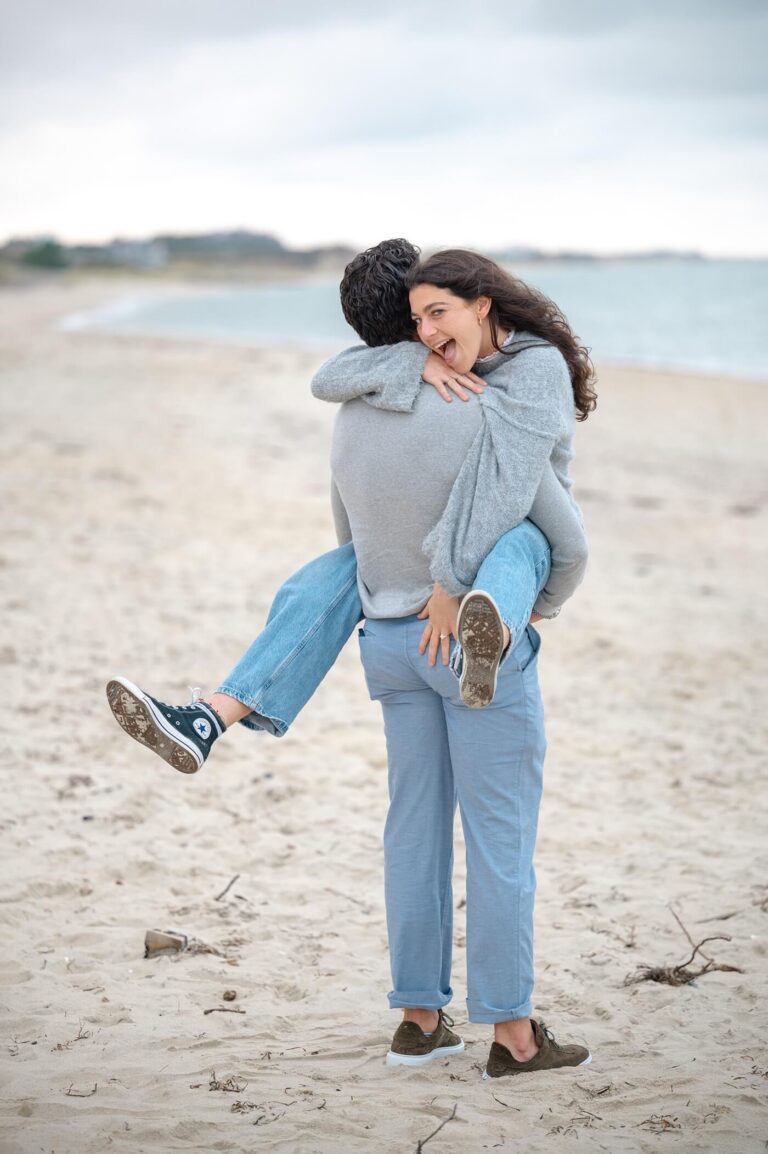
M 551 553 L 549 577 L 534 609 L 542 617 L 556 617 L 581 584 L 588 549 L 579 507 L 551 465 L 544 470 L 528 519 L 542 531 Z

